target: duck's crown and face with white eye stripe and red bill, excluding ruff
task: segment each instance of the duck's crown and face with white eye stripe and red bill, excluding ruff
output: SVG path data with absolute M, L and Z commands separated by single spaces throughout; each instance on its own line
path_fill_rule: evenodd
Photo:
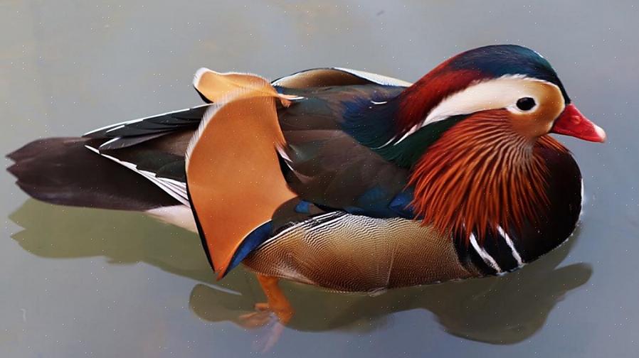
M 397 142 L 437 121 L 480 112 L 508 119 L 532 141 L 549 133 L 606 141 L 606 132 L 571 103 L 550 63 L 519 45 L 460 53 L 406 89 L 399 105 Z

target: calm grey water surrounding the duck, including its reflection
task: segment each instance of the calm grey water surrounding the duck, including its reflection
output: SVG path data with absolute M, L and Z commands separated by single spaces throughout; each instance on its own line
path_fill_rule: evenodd
M 193 72 L 342 66 L 416 80 L 492 43 L 538 50 L 604 145 L 561 138 L 586 185 L 569 244 L 517 273 L 377 297 L 292 283 L 274 357 L 636 357 L 636 1 L 0 3 L 0 152 L 199 103 Z M 612 4 L 611 4 L 612 3 Z M 5 161 L 5 166 L 9 161 Z M 81 175 L 81 173 L 78 173 Z M 268 328 L 243 269 L 215 282 L 196 235 L 29 200 L 0 173 L 0 357 L 246 357 Z M 255 343 L 257 341 L 257 343 Z

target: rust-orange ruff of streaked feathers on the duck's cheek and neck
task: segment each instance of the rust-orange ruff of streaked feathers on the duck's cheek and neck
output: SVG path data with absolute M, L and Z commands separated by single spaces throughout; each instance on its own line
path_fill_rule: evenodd
M 505 110 L 482 112 L 455 124 L 416 163 L 413 210 L 440 232 L 475 232 L 537 222 L 549 205 L 548 170 L 540 148 L 567 151 L 550 136 L 518 134 Z M 467 229 L 470 228 L 470 229 Z

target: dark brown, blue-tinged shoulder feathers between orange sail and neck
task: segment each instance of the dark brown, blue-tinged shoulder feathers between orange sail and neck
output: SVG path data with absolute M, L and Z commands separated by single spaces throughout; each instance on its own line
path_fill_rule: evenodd
M 398 216 L 390 204 L 406 187 L 408 169 L 361 145 L 344 130 L 344 121 L 349 113 L 369 113 L 366 121 L 391 116 L 389 103 L 401 90 L 357 85 L 298 92 L 306 99 L 279 114 L 286 139 L 280 156 L 292 190 L 323 207 L 371 217 Z

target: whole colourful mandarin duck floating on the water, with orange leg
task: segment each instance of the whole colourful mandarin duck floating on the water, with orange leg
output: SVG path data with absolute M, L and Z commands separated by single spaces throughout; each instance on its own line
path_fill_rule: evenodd
M 199 232 L 218 278 L 245 264 L 282 322 L 280 278 L 375 293 L 539 258 L 574 231 L 583 197 L 549 134 L 606 139 L 519 45 L 468 50 L 415 83 L 202 68 L 194 87 L 205 104 L 34 141 L 9 171 L 39 200 Z

